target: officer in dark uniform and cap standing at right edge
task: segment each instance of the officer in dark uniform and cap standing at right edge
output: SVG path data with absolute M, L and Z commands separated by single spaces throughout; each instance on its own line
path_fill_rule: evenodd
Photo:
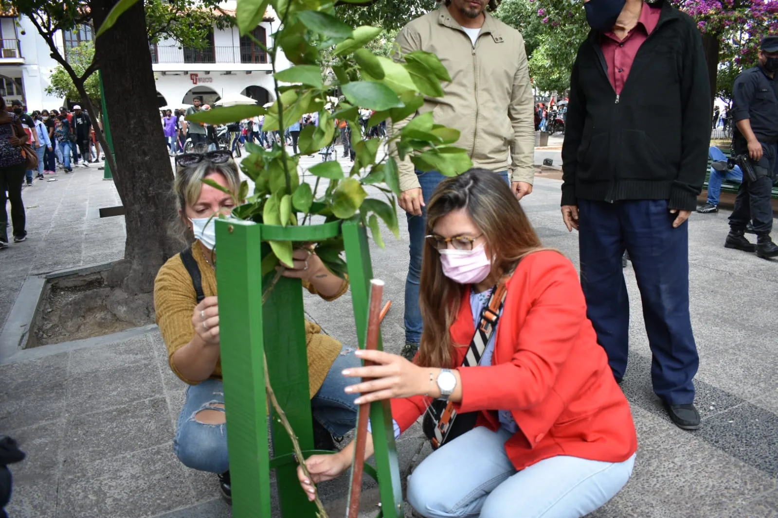
M 778 256 L 778 246 L 770 239 L 773 230 L 773 207 L 770 194 L 773 170 L 776 168 L 778 143 L 778 36 L 762 40 L 759 66 L 741 72 L 734 81 L 732 120 L 735 123 L 732 142 L 735 155 L 748 155 L 754 178 L 744 170 L 743 183 L 729 218 L 730 233 L 724 246 L 754 252 L 763 259 Z M 752 221 L 757 236 L 754 246 L 743 232 Z

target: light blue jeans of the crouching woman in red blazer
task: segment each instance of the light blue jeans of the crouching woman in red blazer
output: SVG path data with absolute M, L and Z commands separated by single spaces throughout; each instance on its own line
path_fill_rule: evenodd
M 408 502 L 426 518 L 580 518 L 604 506 L 632 475 L 619 463 L 551 457 L 516 471 L 511 433 L 471 429 L 435 450 L 408 477 Z

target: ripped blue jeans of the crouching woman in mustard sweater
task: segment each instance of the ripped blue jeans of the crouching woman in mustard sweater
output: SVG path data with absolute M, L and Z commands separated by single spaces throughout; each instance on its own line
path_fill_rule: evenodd
M 324 384 L 310 400 L 314 419 L 335 436 L 343 436 L 356 426 L 354 399 L 357 395 L 346 394 L 344 390 L 356 381 L 341 374 L 343 369 L 362 365 L 354 350 L 342 349 L 324 378 Z M 226 424 L 206 424 L 195 417 L 201 410 L 224 412 L 223 407 L 224 386 L 221 380 L 209 379 L 187 387 L 187 398 L 178 415 L 173 439 L 173 453 L 187 468 L 211 473 L 223 473 L 230 469 Z

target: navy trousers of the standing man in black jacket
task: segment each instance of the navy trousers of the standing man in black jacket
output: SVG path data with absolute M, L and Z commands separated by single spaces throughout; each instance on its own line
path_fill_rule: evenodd
M 670 405 L 694 402 L 699 356 L 689 316 L 689 223 L 673 228 L 667 200 L 578 200 L 578 214 L 587 316 L 614 376 L 624 376 L 629 347 L 626 249 L 643 302 L 654 392 Z

